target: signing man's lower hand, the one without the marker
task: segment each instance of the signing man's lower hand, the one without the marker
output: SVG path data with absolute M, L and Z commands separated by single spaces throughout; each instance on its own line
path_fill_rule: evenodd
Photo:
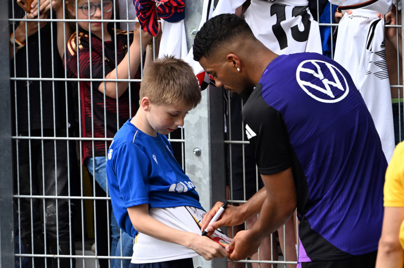
M 240 260 L 254 255 L 258 251 L 261 240 L 254 238 L 250 230 L 239 231 L 233 241 L 226 246 L 229 252 L 229 259 Z

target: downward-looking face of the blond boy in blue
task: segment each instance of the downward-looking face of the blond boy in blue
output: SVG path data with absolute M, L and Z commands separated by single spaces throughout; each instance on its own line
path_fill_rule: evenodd
M 157 132 L 167 135 L 178 127 L 184 125 L 184 118 L 192 106 L 179 104 L 149 104 L 148 113 L 146 115 L 148 123 L 148 131 L 146 134 L 156 136 Z

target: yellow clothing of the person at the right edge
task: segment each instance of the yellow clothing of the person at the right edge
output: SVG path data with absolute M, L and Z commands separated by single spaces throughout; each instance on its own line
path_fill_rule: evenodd
M 384 206 L 404 207 L 404 141 L 398 143 L 386 171 L 384 183 Z M 398 235 L 404 249 L 404 221 Z

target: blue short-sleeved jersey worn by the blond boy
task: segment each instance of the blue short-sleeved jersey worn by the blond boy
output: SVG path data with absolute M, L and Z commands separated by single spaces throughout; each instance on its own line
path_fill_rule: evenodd
M 194 206 L 201 208 L 195 186 L 174 158 L 164 135 L 149 136 L 129 120 L 108 150 L 107 180 L 118 225 L 133 237 L 127 207 Z

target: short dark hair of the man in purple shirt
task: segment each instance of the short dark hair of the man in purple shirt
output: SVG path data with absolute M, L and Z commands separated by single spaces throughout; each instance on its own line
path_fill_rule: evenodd
M 221 45 L 238 37 L 254 37 L 245 20 L 234 14 L 220 14 L 205 22 L 193 41 L 193 60 L 209 57 Z

